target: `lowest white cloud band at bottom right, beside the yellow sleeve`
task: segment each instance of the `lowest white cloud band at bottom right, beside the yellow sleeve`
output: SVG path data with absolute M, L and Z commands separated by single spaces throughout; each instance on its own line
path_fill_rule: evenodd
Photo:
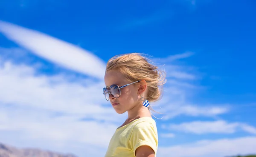
M 201 140 L 196 143 L 160 147 L 158 157 L 225 157 L 237 154 L 255 154 L 256 137 Z

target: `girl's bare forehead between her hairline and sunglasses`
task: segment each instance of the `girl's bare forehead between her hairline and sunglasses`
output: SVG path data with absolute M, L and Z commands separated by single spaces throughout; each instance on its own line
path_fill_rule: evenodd
M 126 79 L 120 71 L 110 70 L 105 73 L 105 85 L 111 86 L 112 84 L 120 85 L 126 83 Z

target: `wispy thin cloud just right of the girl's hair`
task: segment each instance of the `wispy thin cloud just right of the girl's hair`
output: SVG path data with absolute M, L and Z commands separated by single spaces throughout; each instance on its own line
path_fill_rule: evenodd
M 158 102 L 158 106 L 161 106 L 158 111 L 164 113 L 163 120 L 177 116 L 216 117 L 230 110 L 229 104 L 193 104 L 188 99 L 188 97 L 197 97 L 194 93 L 202 89 L 201 86 L 198 86 L 199 83 L 195 84 L 196 81 L 199 82 L 201 77 L 197 75 L 194 67 L 184 66 L 180 64 L 180 60 L 189 58 L 194 54 L 194 52 L 187 51 L 152 60 L 154 63 L 164 64 L 160 68 L 165 70 L 167 75 L 164 96 Z

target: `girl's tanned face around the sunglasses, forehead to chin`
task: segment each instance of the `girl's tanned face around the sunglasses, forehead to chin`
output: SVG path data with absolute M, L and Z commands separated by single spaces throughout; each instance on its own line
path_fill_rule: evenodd
M 105 85 L 109 87 L 111 85 L 124 86 L 131 82 L 128 82 L 121 72 L 117 70 L 110 70 L 105 73 Z M 124 88 L 120 88 L 121 95 L 118 98 L 109 94 L 109 101 L 118 114 L 125 113 L 133 108 L 135 105 L 141 103 L 139 94 L 139 85 L 137 83 L 131 84 Z M 109 88 L 108 88 L 109 89 Z

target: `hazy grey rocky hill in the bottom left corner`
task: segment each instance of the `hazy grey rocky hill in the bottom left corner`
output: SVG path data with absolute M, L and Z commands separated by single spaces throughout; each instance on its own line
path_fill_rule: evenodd
M 36 148 L 18 149 L 0 143 L 0 157 L 77 157 L 73 154 L 60 154 L 52 151 L 44 151 Z

